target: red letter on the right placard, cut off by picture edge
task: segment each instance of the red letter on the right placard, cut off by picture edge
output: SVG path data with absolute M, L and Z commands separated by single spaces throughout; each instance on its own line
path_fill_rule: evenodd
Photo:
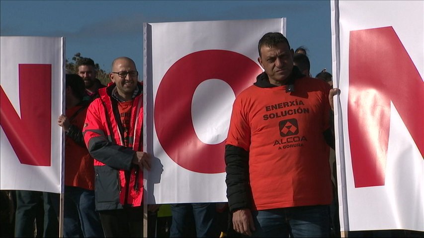
M 423 155 L 424 83 L 414 62 L 392 27 L 351 31 L 347 119 L 355 187 L 384 185 L 390 102 Z

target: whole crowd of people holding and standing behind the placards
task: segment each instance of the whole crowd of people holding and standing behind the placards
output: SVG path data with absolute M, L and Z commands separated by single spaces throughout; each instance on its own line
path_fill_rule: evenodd
M 306 48 L 294 51 L 281 33 L 266 33 L 257 49 L 264 71 L 236 97 L 223 155 L 228 203 L 150 204 L 148 237 L 340 237 L 332 75 L 312 77 Z M 66 113 L 57 120 L 66 135 L 63 237 L 143 237 L 152 155 L 143 151 L 136 64 L 113 60 L 108 85 L 93 60 L 77 66 L 66 74 Z M 58 236 L 58 194 L 1 198 L 2 209 L 9 204 L 2 220 L 14 227 L 1 224 L 2 233 Z

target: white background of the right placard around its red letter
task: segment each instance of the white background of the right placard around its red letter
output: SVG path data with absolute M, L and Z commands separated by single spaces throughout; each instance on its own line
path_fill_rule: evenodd
M 341 231 L 424 231 L 424 160 L 396 108 L 391 104 L 383 186 L 355 188 L 347 128 L 350 31 L 392 26 L 423 78 L 424 2 L 332 1 L 331 7 L 333 73 L 341 91 L 335 110 Z

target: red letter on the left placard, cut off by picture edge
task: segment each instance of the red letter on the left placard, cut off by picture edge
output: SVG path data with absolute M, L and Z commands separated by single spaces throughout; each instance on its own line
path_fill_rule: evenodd
M 0 124 L 21 164 L 51 165 L 51 88 L 51 64 L 19 64 L 19 118 L 0 87 Z

